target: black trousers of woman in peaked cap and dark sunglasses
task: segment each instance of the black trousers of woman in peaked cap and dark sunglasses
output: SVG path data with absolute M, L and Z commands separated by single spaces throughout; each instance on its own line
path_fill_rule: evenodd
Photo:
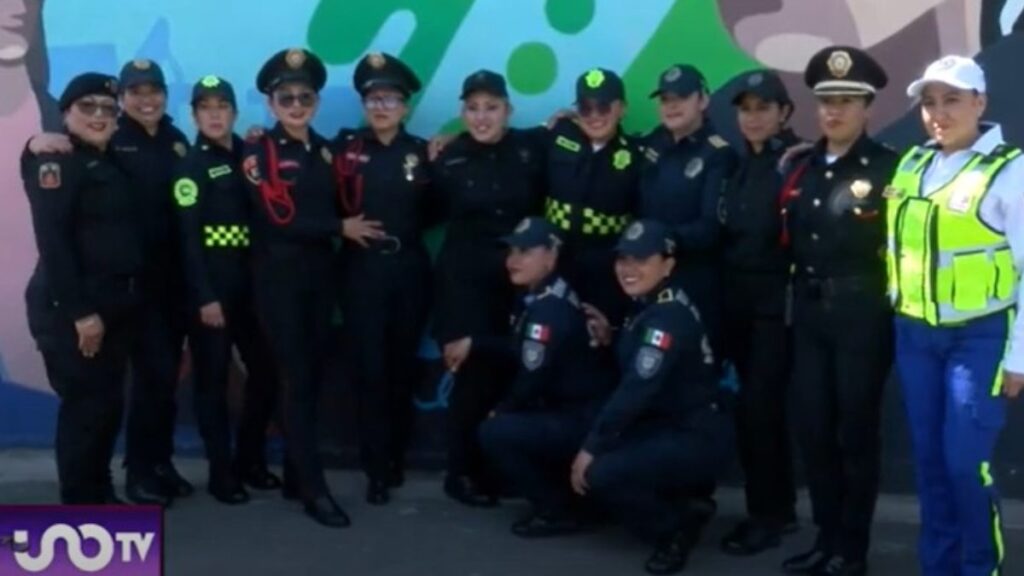
M 318 449 L 317 404 L 335 351 L 331 320 L 335 256 L 327 248 L 301 257 L 257 258 L 256 301 L 281 378 L 287 464 L 305 500 L 328 493 Z M 288 469 L 288 468 L 286 468 Z

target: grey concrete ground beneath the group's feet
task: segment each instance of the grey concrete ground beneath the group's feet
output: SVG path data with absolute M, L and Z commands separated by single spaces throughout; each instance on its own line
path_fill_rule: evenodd
M 353 527 L 330 530 L 304 517 L 298 504 L 276 494 L 255 494 L 248 505 L 216 503 L 204 490 L 205 464 L 179 461 L 200 491 L 176 502 L 166 515 L 166 574 L 169 576 L 622 576 L 642 574 L 649 550 L 616 528 L 556 540 L 523 541 L 509 524 L 525 507 L 505 503 L 496 510 L 468 509 L 447 500 L 440 476 L 417 472 L 397 490 L 390 505 L 362 501 L 364 481 L 352 471 L 332 471 L 330 483 Z M 55 468 L 50 453 L 0 451 L 0 503 L 53 503 Z M 120 487 L 119 487 L 120 488 Z M 807 498 L 802 495 L 804 528 L 782 547 L 753 559 L 718 551 L 721 536 L 740 517 L 742 493 L 723 489 L 719 515 L 690 559 L 686 574 L 757 576 L 778 574 L 790 553 L 813 538 Z M 1024 502 L 1006 502 L 1008 575 L 1024 574 Z M 910 575 L 914 558 L 916 502 L 884 496 L 879 504 L 871 573 Z

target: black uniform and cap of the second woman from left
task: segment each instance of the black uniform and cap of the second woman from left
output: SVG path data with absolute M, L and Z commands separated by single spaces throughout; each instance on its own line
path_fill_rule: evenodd
M 163 72 L 150 60 L 130 61 L 121 71 L 122 90 L 138 84 L 166 90 Z M 132 387 L 125 437 L 128 494 L 140 503 L 164 503 L 166 497 L 191 492 L 191 486 L 171 466 L 175 393 L 187 317 L 177 214 L 170 191 L 175 166 L 185 156 L 188 140 L 169 116 L 150 134 L 122 114 L 111 147 L 141 198 L 144 225 L 142 310 L 131 353 Z M 154 483 L 155 479 L 159 483 Z

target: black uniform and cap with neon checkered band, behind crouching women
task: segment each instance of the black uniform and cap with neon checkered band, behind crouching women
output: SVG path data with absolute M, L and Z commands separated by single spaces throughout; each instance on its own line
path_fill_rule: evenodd
M 595 69 L 577 82 L 577 100 L 625 100 L 613 72 Z M 545 214 L 565 238 L 560 265 L 580 297 L 618 326 L 628 299 L 615 280 L 612 248 L 637 210 L 642 153 L 637 139 L 621 129 L 600 150 L 570 119 L 543 134 L 547 150 Z

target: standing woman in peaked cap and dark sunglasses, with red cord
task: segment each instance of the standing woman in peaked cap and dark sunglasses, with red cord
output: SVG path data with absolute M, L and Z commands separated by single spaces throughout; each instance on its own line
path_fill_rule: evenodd
M 326 83 L 327 69 L 312 52 L 273 54 L 256 87 L 278 123 L 246 145 L 242 167 L 255 204 L 257 310 L 283 380 L 285 496 L 301 498 L 317 523 L 342 528 L 350 521 L 331 495 L 317 451 L 316 407 L 333 349 L 333 240 L 342 230 L 331 143 L 309 125 Z

